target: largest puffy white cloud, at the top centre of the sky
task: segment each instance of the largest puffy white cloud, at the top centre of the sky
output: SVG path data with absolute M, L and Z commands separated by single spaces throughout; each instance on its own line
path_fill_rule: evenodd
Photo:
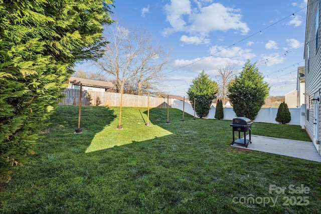
M 164 36 L 175 32 L 187 32 L 191 36 L 202 35 L 208 37 L 213 31 L 234 30 L 242 35 L 249 32 L 246 23 L 242 22 L 240 10 L 226 8 L 222 4 L 213 3 L 209 6 L 204 4 L 212 1 L 198 1 L 198 7 L 192 8 L 189 0 L 172 0 L 171 5 L 165 6 L 167 21 L 171 27 L 166 28 Z

